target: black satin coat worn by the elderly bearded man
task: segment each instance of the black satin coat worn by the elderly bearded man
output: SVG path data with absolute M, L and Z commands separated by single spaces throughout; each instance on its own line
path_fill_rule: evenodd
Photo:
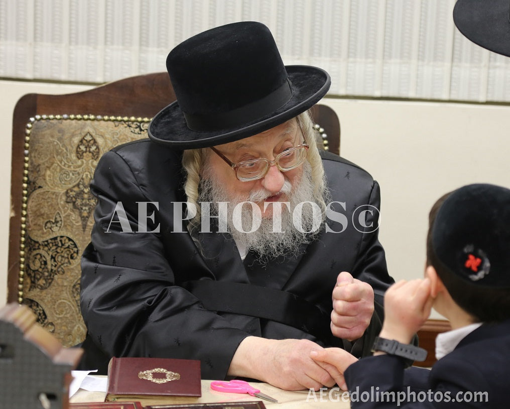
M 222 379 L 239 343 L 248 335 L 306 338 L 325 346 L 346 347 L 358 355 L 363 350 L 367 352 L 380 329 L 382 296 L 393 282 L 377 230 L 369 232 L 377 223 L 374 209 L 379 209 L 379 186 L 367 172 L 336 155 L 325 153 L 323 163 L 333 201 L 342 202 L 333 205 L 337 213 L 331 219 L 337 221 L 327 220 L 328 227 L 343 231 L 325 232 L 322 226 L 318 238 L 303 246 L 299 256 L 282 257 L 261 266 L 250 254 L 243 263 L 233 240 L 226 234 L 199 233 L 203 246 L 199 249 L 185 225 L 184 232 L 174 232 L 180 227 L 180 223 L 174 225 L 174 204 L 186 202 L 179 152 L 142 140 L 105 154 L 91 183 L 98 204 L 92 242 L 82 258 L 81 308 L 88 329 L 84 344 L 86 366 L 101 367 L 100 363 L 90 361 L 91 349 L 97 347 L 106 358 L 200 359 L 202 378 Z M 122 232 L 121 224 L 116 222 L 118 202 L 122 203 L 132 233 Z M 137 232 L 142 230 L 138 225 L 137 202 L 158 203 L 158 209 L 148 205 L 147 214 L 154 212 L 154 223 L 145 220 L 147 231 L 159 226 L 159 233 Z M 360 209 L 372 210 L 374 216 L 363 212 L 365 218 L 360 223 Z M 345 218 L 339 218 L 339 213 Z M 182 213 L 176 214 L 181 217 Z M 371 224 L 372 227 L 363 228 Z M 309 333 L 304 324 L 290 326 L 236 314 L 228 308 L 208 310 L 184 288 L 190 280 L 251 283 L 276 293 L 282 290 L 293 299 L 316 306 L 327 318 L 333 308 L 331 292 L 341 271 L 369 282 L 375 291 L 372 323 L 354 345 L 331 336 L 328 321 L 317 324 L 323 334 L 329 333 L 320 339 Z M 208 296 L 216 301 L 222 297 L 236 298 L 236 294 L 225 296 L 222 291 L 212 291 Z M 237 302 L 242 304 L 243 298 Z M 246 304 L 250 302 L 253 300 L 246 299 Z M 258 307 L 254 306 L 256 310 Z M 260 307 L 270 309 L 271 298 Z M 294 308 L 286 309 L 277 311 L 284 322 L 286 317 L 300 320 Z

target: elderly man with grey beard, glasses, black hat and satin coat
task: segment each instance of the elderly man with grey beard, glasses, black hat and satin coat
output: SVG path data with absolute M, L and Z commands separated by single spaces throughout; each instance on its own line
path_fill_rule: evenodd
M 150 140 L 104 155 L 91 184 L 84 366 L 194 358 L 205 379 L 333 386 L 310 352 L 367 353 L 393 280 L 377 183 L 317 149 L 307 110 L 329 76 L 284 66 L 257 22 L 191 37 L 167 69 L 177 102 Z

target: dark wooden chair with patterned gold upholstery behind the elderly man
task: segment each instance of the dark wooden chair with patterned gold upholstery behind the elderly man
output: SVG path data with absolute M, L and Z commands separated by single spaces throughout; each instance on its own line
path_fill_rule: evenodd
M 72 94 L 27 94 L 14 109 L 8 302 L 28 305 L 64 346 L 86 332 L 80 257 L 93 225 L 89 182 L 97 161 L 145 138 L 150 117 L 174 100 L 167 73 L 156 73 Z M 324 105 L 312 111 L 338 154 L 337 115 Z

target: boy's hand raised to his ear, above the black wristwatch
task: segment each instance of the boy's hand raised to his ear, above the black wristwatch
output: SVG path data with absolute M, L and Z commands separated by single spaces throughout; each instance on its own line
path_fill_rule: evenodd
M 385 319 L 379 336 L 403 344 L 411 342 L 430 316 L 432 303 L 429 278 L 393 284 L 385 295 Z

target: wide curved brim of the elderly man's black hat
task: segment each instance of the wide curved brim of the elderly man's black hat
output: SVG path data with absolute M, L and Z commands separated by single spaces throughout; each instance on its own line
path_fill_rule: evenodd
M 321 68 L 307 65 L 285 67 L 291 82 L 292 98 L 268 116 L 234 129 L 212 132 L 193 131 L 177 101 L 163 108 L 149 124 L 149 138 L 175 149 L 196 149 L 222 145 L 256 135 L 283 124 L 319 102 L 331 85 L 329 75 Z

